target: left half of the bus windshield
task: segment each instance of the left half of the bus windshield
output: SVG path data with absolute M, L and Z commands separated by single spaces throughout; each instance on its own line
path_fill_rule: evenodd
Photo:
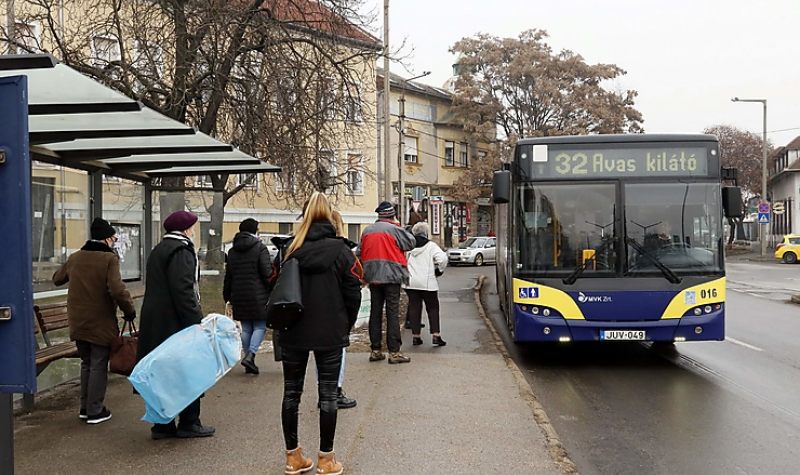
M 537 184 L 517 188 L 517 269 L 539 274 L 615 272 L 618 226 L 614 184 Z

